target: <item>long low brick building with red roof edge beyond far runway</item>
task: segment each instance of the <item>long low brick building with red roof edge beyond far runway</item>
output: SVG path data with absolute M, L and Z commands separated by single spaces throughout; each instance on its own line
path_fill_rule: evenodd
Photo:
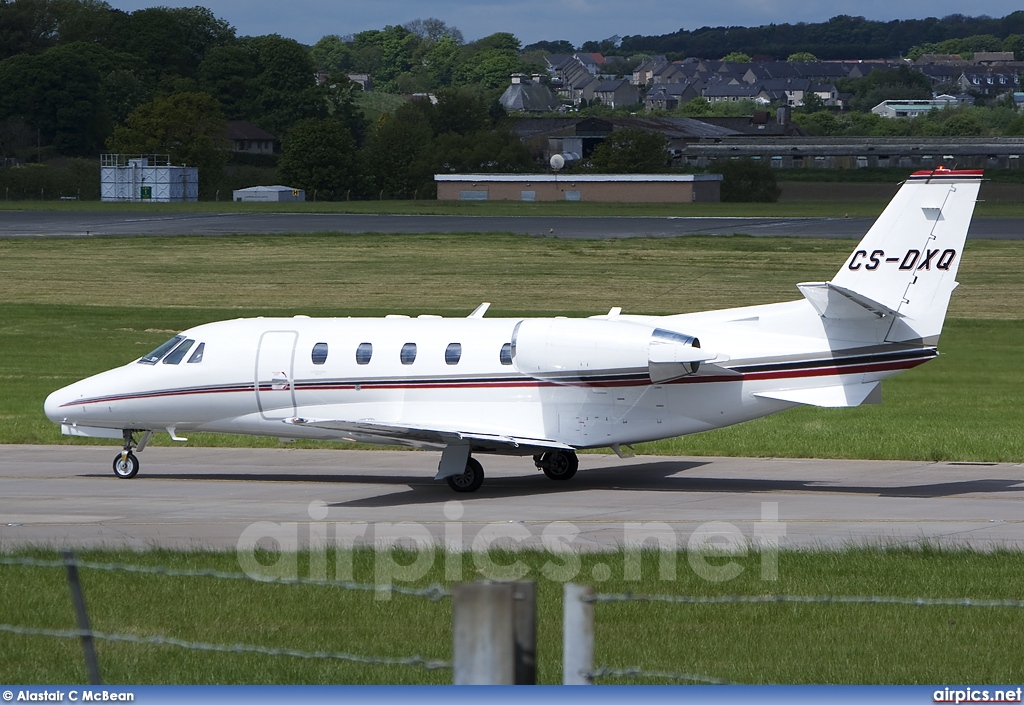
M 434 174 L 438 201 L 694 203 L 721 200 L 721 174 Z

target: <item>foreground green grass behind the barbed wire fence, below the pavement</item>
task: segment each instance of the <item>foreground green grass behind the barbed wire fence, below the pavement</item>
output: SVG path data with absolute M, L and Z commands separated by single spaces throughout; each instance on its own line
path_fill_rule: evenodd
M 54 558 L 51 551 L 31 552 Z M 83 561 L 133 563 L 177 569 L 239 572 L 233 553 L 153 550 L 88 551 Z M 272 556 L 266 555 L 264 558 Z M 492 554 L 495 563 L 522 561 L 538 581 L 538 675 L 561 679 L 562 583 L 544 565 L 569 566 L 564 556 L 540 552 Z M 308 555 L 299 575 L 309 575 Z M 328 566 L 335 565 L 328 556 Z M 411 563 L 412 554 L 389 559 Z M 699 578 L 684 553 L 676 577 L 662 580 L 660 557 L 642 556 L 640 579 L 624 579 L 624 554 L 579 556 L 577 582 L 599 592 L 686 595 L 889 595 L 1020 599 L 1024 553 L 920 548 L 859 548 L 839 552 L 782 552 L 778 580 L 761 579 L 760 554 L 708 557 L 742 569 L 725 582 Z M 355 580 L 373 582 L 381 556 L 357 550 Z M 464 554 L 463 575 L 477 574 L 479 556 Z M 599 565 L 611 577 L 591 577 Z M 445 559 L 416 584 L 445 586 Z M 605 569 L 598 568 L 600 573 Z M 452 658 L 451 599 L 331 587 L 285 586 L 199 577 L 160 577 L 80 571 L 92 628 L 110 633 L 165 635 L 187 641 L 249 644 L 303 651 Z M 333 577 L 331 573 L 329 577 Z M 658 605 L 599 604 L 595 665 L 641 666 L 752 683 L 1012 683 L 1020 680 L 1013 647 L 1024 629 L 1024 610 L 1013 608 L 883 605 Z M 74 629 L 65 572 L 58 568 L 0 570 L 0 623 Z M 447 669 L 353 665 L 253 654 L 211 654 L 169 646 L 97 642 L 108 683 L 444 683 Z M 70 683 L 85 680 L 77 639 L 3 634 L 0 679 Z M 612 678 L 600 682 L 659 682 Z M 665 682 L 665 680 L 660 680 Z

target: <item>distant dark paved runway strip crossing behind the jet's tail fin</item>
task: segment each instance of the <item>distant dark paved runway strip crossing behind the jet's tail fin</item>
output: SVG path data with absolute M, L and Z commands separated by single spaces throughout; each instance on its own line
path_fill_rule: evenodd
M 334 213 L 90 213 L 0 211 L 0 238 L 281 233 L 515 233 L 573 239 L 734 235 L 859 239 L 873 218 L 684 218 Z M 1024 220 L 975 218 L 972 239 L 1020 240 Z

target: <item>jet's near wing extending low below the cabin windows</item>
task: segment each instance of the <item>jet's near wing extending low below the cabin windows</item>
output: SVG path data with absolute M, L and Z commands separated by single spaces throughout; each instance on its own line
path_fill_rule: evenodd
M 474 451 L 534 455 L 549 450 L 572 450 L 572 446 L 550 439 L 527 439 L 500 433 L 482 433 L 455 428 L 428 427 L 382 423 L 380 421 L 346 421 L 342 419 L 293 418 L 286 421 L 307 428 L 324 428 L 338 432 L 338 438 L 350 443 L 395 444 L 418 448 L 444 448 L 462 445 Z

